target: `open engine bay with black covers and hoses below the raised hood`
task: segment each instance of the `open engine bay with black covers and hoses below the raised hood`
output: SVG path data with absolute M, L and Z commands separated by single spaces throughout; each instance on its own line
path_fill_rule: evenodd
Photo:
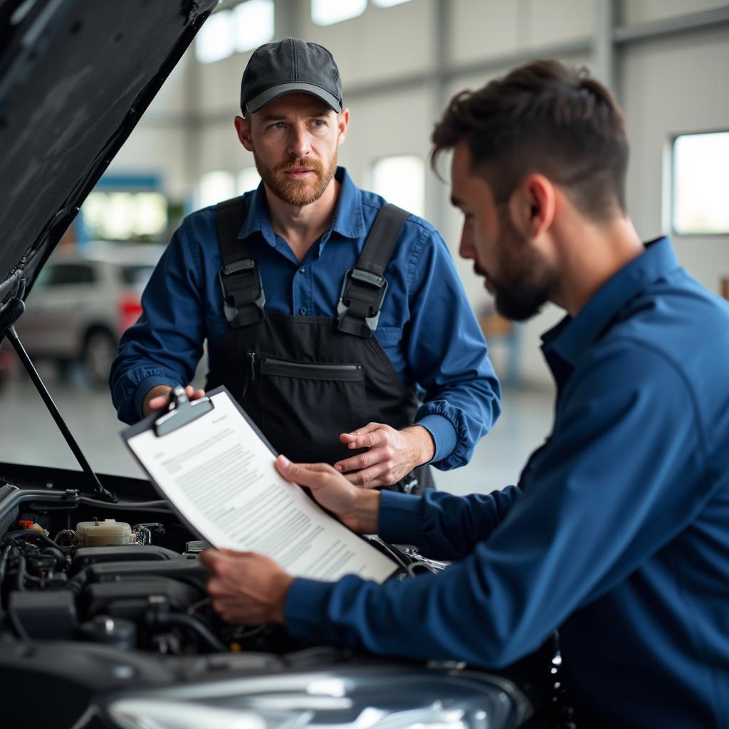
M 157 655 L 297 647 L 282 645 L 273 626 L 233 626 L 217 618 L 206 596 L 207 570 L 198 562 L 208 545 L 163 504 L 91 507 L 71 494 L 63 499 L 56 492 L 55 503 L 31 497 L 4 518 L 5 631 L 26 642 L 79 640 Z M 143 517 L 145 507 L 162 512 L 152 514 L 159 521 L 121 521 L 124 512 Z

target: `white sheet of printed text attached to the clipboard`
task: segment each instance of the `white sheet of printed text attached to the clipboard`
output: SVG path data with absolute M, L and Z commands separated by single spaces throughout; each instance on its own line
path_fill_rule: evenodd
M 209 397 L 212 410 L 173 432 L 157 436 L 149 420 L 122 434 L 193 531 L 214 547 L 267 555 L 296 577 L 382 582 L 395 571 L 278 474 L 276 456 L 225 388 Z

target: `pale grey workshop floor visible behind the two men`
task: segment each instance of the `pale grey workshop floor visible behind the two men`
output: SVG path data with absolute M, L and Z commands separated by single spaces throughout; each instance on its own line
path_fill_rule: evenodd
M 90 391 L 79 377 L 55 380 L 41 370 L 53 399 L 91 467 L 101 473 L 141 475 L 120 438 L 106 391 Z M 454 494 L 488 493 L 515 483 L 527 456 L 542 443 L 551 424 L 552 395 L 507 391 L 502 416 L 477 445 L 467 467 L 436 472 L 437 486 Z M 73 454 L 52 421 L 31 381 L 16 376 L 0 393 L 0 461 L 78 469 Z

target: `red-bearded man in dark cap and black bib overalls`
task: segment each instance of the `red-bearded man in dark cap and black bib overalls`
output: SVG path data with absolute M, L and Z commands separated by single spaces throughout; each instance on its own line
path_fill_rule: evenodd
M 262 182 L 174 234 L 112 366 L 120 419 L 166 405 L 207 338 L 206 389 L 225 384 L 277 451 L 367 488 L 432 486 L 424 464 L 466 464 L 500 397 L 443 238 L 337 166 L 349 111 L 324 47 L 255 50 L 241 111 Z

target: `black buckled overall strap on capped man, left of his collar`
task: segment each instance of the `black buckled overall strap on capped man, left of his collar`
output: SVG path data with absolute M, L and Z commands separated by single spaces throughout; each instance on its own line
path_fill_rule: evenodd
M 245 327 L 263 321 L 266 297 L 257 263 L 250 257 L 248 244 L 238 238 L 246 219 L 242 197 L 215 206 L 215 223 L 223 265 L 218 281 L 223 292 L 223 311 L 231 327 Z

